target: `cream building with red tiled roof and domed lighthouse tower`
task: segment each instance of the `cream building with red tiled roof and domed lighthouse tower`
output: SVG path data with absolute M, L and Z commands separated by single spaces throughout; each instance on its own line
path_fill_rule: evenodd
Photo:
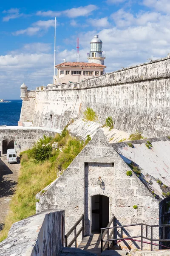
M 88 62 L 63 62 L 56 65 L 57 76 L 55 84 L 81 82 L 85 79 L 102 76 L 106 66 L 102 55 L 102 41 L 95 35 L 91 41 L 91 52 L 88 53 Z

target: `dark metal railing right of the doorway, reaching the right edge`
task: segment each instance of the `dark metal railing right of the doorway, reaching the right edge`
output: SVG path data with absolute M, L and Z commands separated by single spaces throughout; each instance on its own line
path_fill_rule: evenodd
M 140 236 L 127 236 L 123 237 L 123 228 L 124 227 L 132 227 L 132 226 L 141 226 L 141 235 Z M 143 236 L 143 226 L 146 227 L 146 234 Z M 147 236 L 147 228 L 150 227 L 150 238 Z M 163 227 L 163 239 L 153 239 L 153 227 Z M 138 224 L 130 224 L 130 225 L 123 225 L 123 226 L 114 226 L 113 227 L 105 227 L 101 228 L 101 251 L 105 250 L 106 247 L 103 246 L 103 242 L 108 242 L 108 250 L 109 250 L 109 241 L 117 241 L 117 240 L 127 240 L 127 239 L 134 239 L 134 238 L 141 238 L 141 250 L 143 249 L 143 239 L 149 240 L 150 241 L 150 250 L 153 250 L 153 241 L 170 241 L 170 239 L 164 239 L 165 237 L 165 227 L 170 227 L 170 224 L 162 224 L 162 225 L 147 225 L 144 223 L 138 223 Z M 108 236 L 108 239 L 104 240 L 103 234 L 108 232 L 107 230 L 113 229 L 114 230 L 120 228 L 121 229 L 121 236 L 119 238 L 114 238 L 111 239 L 111 236 Z M 104 231 L 104 232 L 103 232 Z

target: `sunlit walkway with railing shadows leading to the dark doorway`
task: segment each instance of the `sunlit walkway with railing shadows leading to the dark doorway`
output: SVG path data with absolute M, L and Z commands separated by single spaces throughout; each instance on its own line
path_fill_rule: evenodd
M 100 234 L 83 237 L 79 249 L 86 250 L 90 253 L 96 253 L 97 256 L 101 255 Z

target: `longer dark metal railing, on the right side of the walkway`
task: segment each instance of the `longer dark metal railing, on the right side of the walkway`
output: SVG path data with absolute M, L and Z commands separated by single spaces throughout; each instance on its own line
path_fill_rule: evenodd
M 108 224 L 109 225 L 109 224 Z M 133 226 L 141 226 L 141 235 L 140 236 L 127 236 L 127 237 L 123 237 L 123 229 L 125 227 L 133 227 Z M 145 231 L 145 236 L 143 235 L 143 228 L 146 227 L 146 231 Z M 148 227 L 150 227 L 150 238 L 148 237 Z M 159 228 L 163 228 L 163 239 L 153 239 L 153 227 L 159 227 Z M 143 250 L 143 243 L 147 243 L 146 241 L 143 241 L 143 239 L 149 240 L 150 241 L 150 250 L 153 250 L 153 245 L 159 245 L 159 244 L 153 244 L 153 241 L 169 241 L 170 239 L 165 239 L 165 227 L 170 227 L 170 224 L 166 224 L 166 225 L 147 225 L 147 224 L 143 224 L 143 223 L 139 223 L 139 224 L 130 224 L 130 225 L 123 225 L 123 226 L 115 226 L 113 224 L 113 227 L 105 227 L 105 228 L 101 228 L 101 251 L 105 250 L 105 246 L 103 246 L 103 242 L 107 242 L 108 243 L 108 250 L 109 250 L 109 242 L 110 241 L 124 241 L 124 240 L 132 240 L 132 241 L 139 241 L 139 240 L 135 240 L 136 238 L 141 238 L 141 250 Z M 109 230 L 111 230 L 111 233 L 109 235 Z M 119 233 L 119 238 L 115 238 L 115 230 L 117 231 L 117 229 L 121 229 L 121 232 Z M 118 231 L 117 231 L 118 232 Z M 106 233 L 108 233 L 108 239 L 104 240 Z M 111 236 L 113 235 L 113 238 L 111 238 Z M 163 246 L 163 245 L 161 245 Z M 168 248 L 168 247 L 167 247 Z

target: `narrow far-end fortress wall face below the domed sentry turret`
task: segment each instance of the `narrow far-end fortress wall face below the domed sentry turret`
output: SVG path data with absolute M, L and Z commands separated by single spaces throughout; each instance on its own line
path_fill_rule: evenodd
M 35 91 L 27 91 L 27 97 L 23 100 L 20 122 L 32 122 L 35 109 Z M 20 125 L 19 122 L 19 125 Z

